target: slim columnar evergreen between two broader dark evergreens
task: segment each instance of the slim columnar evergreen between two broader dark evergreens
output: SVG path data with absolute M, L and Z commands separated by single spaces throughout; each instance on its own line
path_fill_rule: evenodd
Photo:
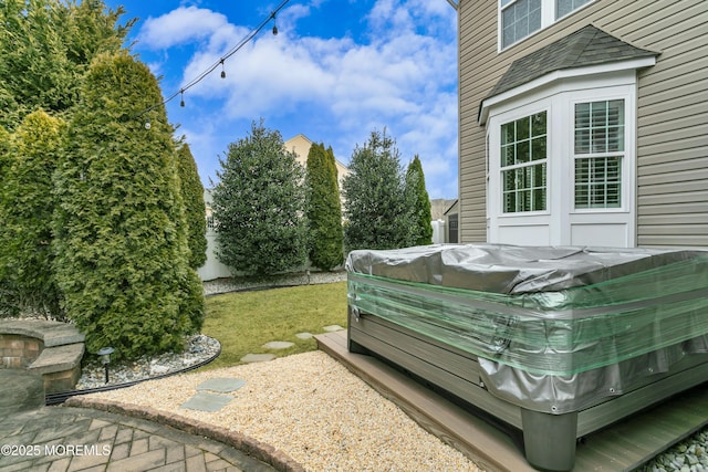
M 342 207 L 332 148 L 313 144 L 305 176 L 310 262 L 329 271 L 342 263 Z

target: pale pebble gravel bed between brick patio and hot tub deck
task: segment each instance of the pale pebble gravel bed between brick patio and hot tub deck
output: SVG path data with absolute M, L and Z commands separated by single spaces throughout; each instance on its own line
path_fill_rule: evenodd
M 211 378 L 246 380 L 217 412 L 180 408 Z M 282 450 L 309 471 L 479 471 L 322 352 L 93 394 L 197 419 Z

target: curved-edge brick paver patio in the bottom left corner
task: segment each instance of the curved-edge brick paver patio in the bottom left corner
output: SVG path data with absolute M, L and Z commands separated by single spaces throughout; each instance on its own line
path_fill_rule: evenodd
M 247 471 L 275 469 L 221 442 L 87 408 L 41 407 L 0 418 L 0 470 Z

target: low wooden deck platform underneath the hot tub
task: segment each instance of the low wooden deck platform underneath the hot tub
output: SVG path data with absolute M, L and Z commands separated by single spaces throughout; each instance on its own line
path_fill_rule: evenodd
M 315 336 L 341 361 L 423 428 L 489 472 L 533 471 L 514 442 L 497 428 L 378 359 L 352 354 L 346 332 Z M 708 424 L 708 384 L 587 436 L 577 444 L 574 472 L 631 471 Z

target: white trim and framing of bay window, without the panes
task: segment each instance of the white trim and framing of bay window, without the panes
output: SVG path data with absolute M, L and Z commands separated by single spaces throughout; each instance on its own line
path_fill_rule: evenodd
M 653 59 L 652 59 L 653 60 Z M 634 62 L 634 61 L 628 61 Z M 634 64 L 633 64 L 634 65 Z M 583 67 L 584 71 L 600 71 Z M 575 72 L 575 73 L 572 73 Z M 635 67 L 605 67 L 584 75 L 559 71 L 513 91 L 485 101 L 481 119 L 489 139 L 487 195 L 488 240 L 503 227 L 548 225 L 549 244 L 569 244 L 571 222 L 583 218 L 620 218 L 628 224 L 627 245 L 636 240 L 636 71 Z M 574 199 L 574 106 L 605 99 L 625 101 L 625 151 L 622 162 L 620 208 L 575 209 Z M 501 200 L 500 128 L 503 123 L 546 111 L 548 162 L 546 211 L 503 213 Z M 613 217 L 612 214 L 615 214 Z M 595 217 L 593 217 L 595 216 Z

